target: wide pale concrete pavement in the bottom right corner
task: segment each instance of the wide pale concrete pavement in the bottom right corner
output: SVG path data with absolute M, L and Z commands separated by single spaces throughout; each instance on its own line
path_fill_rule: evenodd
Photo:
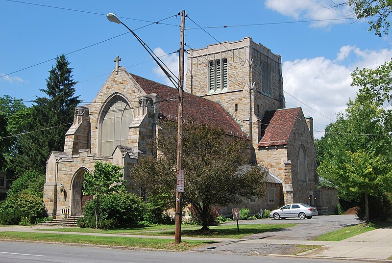
M 326 244 L 299 255 L 385 260 L 392 256 L 392 228 L 375 229 L 342 241 Z

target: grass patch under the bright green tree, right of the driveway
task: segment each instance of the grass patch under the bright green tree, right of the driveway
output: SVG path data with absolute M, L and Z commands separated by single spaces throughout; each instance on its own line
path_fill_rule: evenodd
M 334 232 L 325 233 L 316 237 L 314 240 L 317 241 L 340 241 L 346 239 L 348 237 L 354 237 L 362 233 L 366 233 L 368 231 L 383 228 L 383 227 L 391 227 L 391 222 L 382 222 L 382 223 L 370 223 L 369 225 L 359 224 L 355 226 L 344 227 Z

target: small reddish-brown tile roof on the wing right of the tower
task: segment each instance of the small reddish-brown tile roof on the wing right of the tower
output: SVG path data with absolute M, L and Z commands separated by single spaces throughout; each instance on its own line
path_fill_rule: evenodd
M 261 121 L 262 138 L 258 146 L 286 145 L 301 108 L 268 110 Z

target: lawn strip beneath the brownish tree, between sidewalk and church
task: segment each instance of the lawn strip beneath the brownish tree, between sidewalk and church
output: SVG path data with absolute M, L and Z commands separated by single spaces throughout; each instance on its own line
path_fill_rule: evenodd
M 212 226 L 210 231 L 200 231 L 200 226 L 182 227 L 182 237 L 211 237 L 211 238 L 242 238 L 248 235 L 259 234 L 264 232 L 282 231 L 285 228 L 293 227 L 296 224 L 244 224 L 240 225 L 240 233 L 237 232 L 237 225 Z M 62 232 L 80 232 L 80 233 L 106 233 L 106 234 L 130 234 L 130 235 L 148 235 L 148 236 L 174 236 L 173 226 L 160 225 L 153 227 L 141 227 L 130 229 L 111 229 L 100 230 L 91 228 L 53 228 L 41 229 L 48 231 Z M 162 231 L 165 230 L 165 231 Z

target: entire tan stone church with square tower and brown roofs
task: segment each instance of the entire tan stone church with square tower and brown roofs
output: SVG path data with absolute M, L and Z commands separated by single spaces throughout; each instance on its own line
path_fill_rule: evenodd
M 184 119 L 223 128 L 252 142 L 252 162 L 269 168 L 267 193 L 245 200 L 252 213 L 288 203 L 308 203 L 333 211 L 336 191 L 318 187 L 313 119 L 285 108 L 281 57 L 253 42 L 223 42 L 188 50 Z M 164 120 L 176 121 L 175 88 L 144 79 L 119 66 L 92 103 L 76 107 L 64 152 L 47 161 L 44 204 L 49 214 L 80 214 L 86 171 L 96 161 L 124 166 L 129 191 L 141 194 L 129 173 L 141 154 L 151 154 Z M 230 214 L 231 208 L 223 208 Z

